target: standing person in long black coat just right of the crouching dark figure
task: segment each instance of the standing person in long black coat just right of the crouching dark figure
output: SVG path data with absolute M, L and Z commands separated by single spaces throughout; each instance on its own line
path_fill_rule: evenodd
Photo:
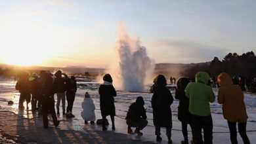
M 156 141 L 161 141 L 160 128 L 165 127 L 168 143 L 172 143 L 171 128 L 173 122 L 171 117 L 171 104 L 173 103 L 173 96 L 166 87 L 166 79 L 163 75 L 158 75 L 158 77 L 154 79 L 154 82 L 151 105 L 153 109 L 153 122 L 154 126 L 156 126 Z

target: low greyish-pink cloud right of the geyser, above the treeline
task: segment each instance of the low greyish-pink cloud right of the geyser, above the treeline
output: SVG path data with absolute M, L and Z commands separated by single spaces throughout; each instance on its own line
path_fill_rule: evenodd
M 161 62 L 173 63 L 208 62 L 215 56 L 221 59 L 228 52 L 226 48 L 189 41 L 158 40 L 152 46 L 158 48 L 154 51 Z

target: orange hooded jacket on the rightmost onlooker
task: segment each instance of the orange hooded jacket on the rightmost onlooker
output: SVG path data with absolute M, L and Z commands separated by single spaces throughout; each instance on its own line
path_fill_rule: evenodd
M 244 93 L 233 84 L 230 75 L 221 73 L 218 77 L 221 84 L 218 92 L 218 103 L 223 104 L 223 116 L 230 122 L 246 122 L 247 113 L 244 104 Z

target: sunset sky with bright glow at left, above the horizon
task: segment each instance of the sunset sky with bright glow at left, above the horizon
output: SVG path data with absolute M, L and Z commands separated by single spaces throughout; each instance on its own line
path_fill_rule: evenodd
M 109 67 L 118 24 L 156 63 L 256 52 L 256 1 L 0 0 L 0 63 Z

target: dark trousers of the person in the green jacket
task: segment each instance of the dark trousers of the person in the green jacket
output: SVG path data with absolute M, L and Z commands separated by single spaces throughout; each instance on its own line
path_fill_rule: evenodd
M 203 140 L 205 144 L 213 143 L 213 119 L 211 115 L 198 116 L 192 115 L 192 127 L 194 128 L 194 143 L 202 143 L 202 129 L 203 129 Z

